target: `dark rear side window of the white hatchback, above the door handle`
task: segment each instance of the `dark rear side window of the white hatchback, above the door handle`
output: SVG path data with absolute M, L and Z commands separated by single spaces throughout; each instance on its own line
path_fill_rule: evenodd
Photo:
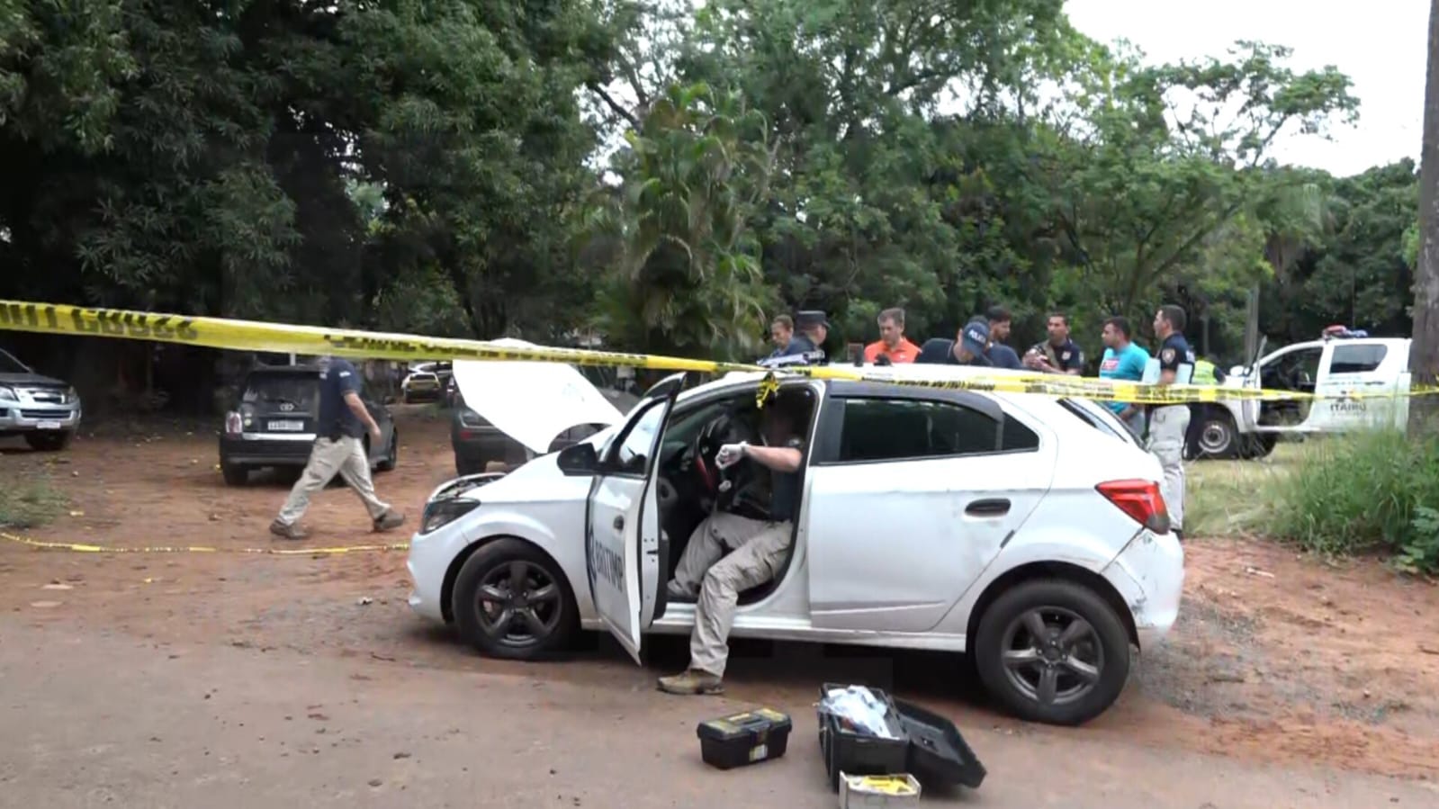
M 1036 449 L 1039 436 L 1013 420 L 953 402 L 846 399 L 837 461 L 899 461 Z

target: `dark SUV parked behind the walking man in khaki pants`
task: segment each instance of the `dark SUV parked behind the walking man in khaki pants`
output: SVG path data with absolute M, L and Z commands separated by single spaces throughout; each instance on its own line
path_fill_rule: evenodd
M 304 468 L 315 443 L 319 419 L 319 366 L 262 366 L 249 371 L 240 403 L 224 415 L 220 433 L 220 472 L 224 482 L 243 485 L 260 468 Z M 400 435 L 390 410 L 367 392 L 361 400 L 380 425 L 380 440 L 364 436 L 370 468 L 389 472 L 400 459 Z

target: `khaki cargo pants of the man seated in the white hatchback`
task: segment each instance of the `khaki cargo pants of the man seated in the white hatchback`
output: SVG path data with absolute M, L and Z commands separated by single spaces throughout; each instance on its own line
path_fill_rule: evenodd
M 787 520 L 764 523 L 721 511 L 711 514 L 689 535 L 675 567 L 679 586 L 688 592 L 699 586 L 689 668 L 724 677 L 740 593 L 774 579 L 793 537 L 794 524 Z

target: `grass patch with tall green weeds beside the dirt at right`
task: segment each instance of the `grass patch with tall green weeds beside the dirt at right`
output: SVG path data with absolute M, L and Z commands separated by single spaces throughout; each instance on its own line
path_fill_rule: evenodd
M 1281 443 L 1262 461 L 1190 464 L 1187 488 L 1194 535 L 1261 535 L 1439 570 L 1439 440 L 1377 430 Z

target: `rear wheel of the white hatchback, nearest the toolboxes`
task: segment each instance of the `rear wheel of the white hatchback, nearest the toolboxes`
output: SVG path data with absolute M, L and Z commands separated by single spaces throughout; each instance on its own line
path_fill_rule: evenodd
M 1038 643 L 1030 641 L 1036 618 L 1046 633 Z M 1065 641 L 1071 628 L 1075 636 Z M 1014 586 L 984 610 L 976 635 L 980 681 L 1027 721 L 1084 724 L 1108 710 L 1130 678 L 1124 623 L 1098 593 L 1073 582 L 1040 579 Z M 1048 701 L 1046 682 L 1053 688 Z

